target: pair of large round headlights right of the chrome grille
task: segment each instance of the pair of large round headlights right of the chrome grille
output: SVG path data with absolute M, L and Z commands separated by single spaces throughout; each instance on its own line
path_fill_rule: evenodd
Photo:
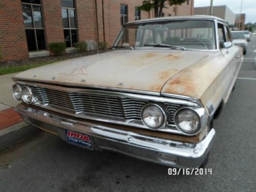
M 166 125 L 166 114 L 163 108 L 157 104 L 147 104 L 141 111 L 143 123 L 151 129 L 161 129 Z M 191 109 L 181 109 L 175 114 L 175 124 L 185 134 L 194 134 L 201 127 L 201 119 L 198 113 Z

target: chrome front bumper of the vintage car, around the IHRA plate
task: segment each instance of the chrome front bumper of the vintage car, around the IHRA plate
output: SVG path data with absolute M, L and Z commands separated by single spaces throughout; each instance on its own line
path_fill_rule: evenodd
M 118 130 L 78 118 L 67 118 L 61 114 L 56 115 L 24 104 L 17 105 L 15 110 L 29 124 L 50 131 L 62 140 L 67 141 L 65 129 L 76 131 L 91 136 L 95 150 L 114 151 L 172 167 L 199 167 L 207 157 L 215 139 L 214 129 L 211 129 L 199 143 L 185 143 Z

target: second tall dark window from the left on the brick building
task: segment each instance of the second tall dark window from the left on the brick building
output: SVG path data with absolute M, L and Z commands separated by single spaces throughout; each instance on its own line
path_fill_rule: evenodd
M 61 13 L 66 46 L 74 47 L 74 44 L 77 42 L 74 0 L 61 0 Z

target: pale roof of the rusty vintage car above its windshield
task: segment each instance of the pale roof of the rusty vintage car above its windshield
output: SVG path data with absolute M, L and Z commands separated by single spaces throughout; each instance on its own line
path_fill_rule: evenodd
M 166 21 L 166 20 L 179 20 L 179 19 L 219 20 L 223 23 L 227 23 L 222 18 L 219 18 L 216 16 L 193 15 L 193 16 L 170 16 L 170 17 L 156 17 L 156 18 L 141 19 L 141 20 L 135 20 L 133 22 L 126 23 L 125 25 L 137 24 L 137 23 L 147 23 L 147 22 L 158 22 L 158 21 Z

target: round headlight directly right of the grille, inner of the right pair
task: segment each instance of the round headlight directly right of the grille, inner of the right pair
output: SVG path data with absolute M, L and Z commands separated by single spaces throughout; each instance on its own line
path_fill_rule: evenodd
M 143 123 L 152 128 L 158 129 L 164 124 L 165 117 L 163 110 L 157 105 L 146 105 L 141 112 Z

